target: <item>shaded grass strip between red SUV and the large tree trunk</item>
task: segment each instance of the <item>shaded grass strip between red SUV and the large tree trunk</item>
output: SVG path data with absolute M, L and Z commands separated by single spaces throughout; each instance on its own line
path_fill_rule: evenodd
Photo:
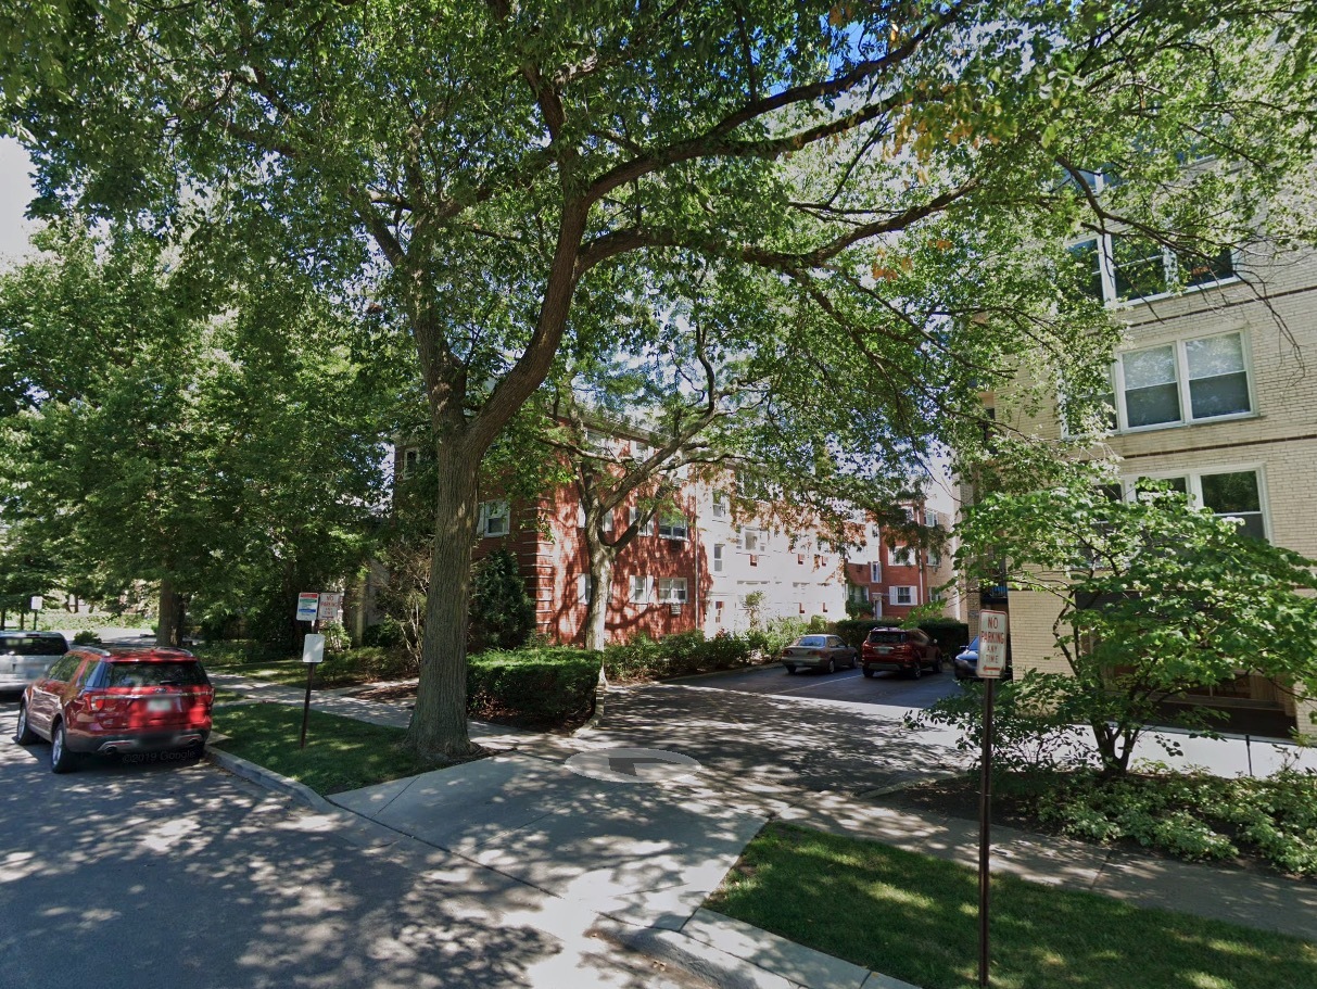
M 404 731 L 312 711 L 307 747 L 298 748 L 302 708 L 257 703 L 220 707 L 215 731 L 230 736 L 217 748 L 306 784 L 320 794 L 440 769 L 402 747 Z

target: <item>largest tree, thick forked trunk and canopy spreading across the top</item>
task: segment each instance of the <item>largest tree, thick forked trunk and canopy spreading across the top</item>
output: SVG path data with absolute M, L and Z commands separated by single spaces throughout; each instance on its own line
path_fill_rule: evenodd
M 1264 0 L 101 9 L 57 21 L 61 86 L 5 100 L 42 195 L 224 224 L 369 283 L 415 342 L 437 458 L 424 751 L 469 748 L 481 460 L 564 338 L 591 345 L 576 317 L 666 252 L 777 273 L 893 381 L 931 356 L 964 404 L 1067 350 L 1054 279 L 1014 259 L 1029 237 L 1137 220 L 1220 245 L 1312 140 L 1287 107 L 1312 105 L 1313 14 Z M 1243 167 L 1184 179 L 1187 141 Z M 1097 201 L 1085 170 L 1112 163 L 1123 191 Z M 977 312 L 886 304 L 936 271 L 982 287 Z M 1033 290 L 1004 294 L 1017 274 Z

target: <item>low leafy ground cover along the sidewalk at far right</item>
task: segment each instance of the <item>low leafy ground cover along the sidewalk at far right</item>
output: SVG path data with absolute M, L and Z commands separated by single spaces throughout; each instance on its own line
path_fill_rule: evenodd
M 1180 859 L 1241 849 L 1281 872 L 1317 876 L 1317 773 L 1222 780 L 1206 773 L 1058 777 L 1038 798 L 1043 820 L 1090 842 L 1130 839 Z

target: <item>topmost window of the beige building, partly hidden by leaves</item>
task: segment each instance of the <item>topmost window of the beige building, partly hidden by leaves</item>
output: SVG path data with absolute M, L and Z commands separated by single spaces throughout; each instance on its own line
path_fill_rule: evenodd
M 1069 255 L 1079 291 L 1108 304 L 1155 299 L 1238 278 L 1229 248 L 1212 255 L 1177 253 L 1138 233 L 1090 237 L 1072 245 Z

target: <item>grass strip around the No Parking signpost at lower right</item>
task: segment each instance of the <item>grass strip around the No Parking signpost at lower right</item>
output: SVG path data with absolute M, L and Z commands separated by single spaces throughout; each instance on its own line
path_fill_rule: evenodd
M 706 903 L 922 989 L 977 985 L 973 869 L 769 824 Z M 1317 944 L 1009 876 L 992 886 L 997 989 L 1317 986 Z

